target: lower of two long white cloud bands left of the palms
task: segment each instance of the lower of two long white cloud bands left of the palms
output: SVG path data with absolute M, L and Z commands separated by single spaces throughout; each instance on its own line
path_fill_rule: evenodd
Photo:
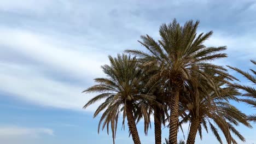
M 83 86 L 59 82 L 38 74 L 33 68 L 1 64 L 0 90 L 21 100 L 42 106 L 82 110 L 91 97 L 84 95 Z M 87 110 L 93 110 L 93 106 Z

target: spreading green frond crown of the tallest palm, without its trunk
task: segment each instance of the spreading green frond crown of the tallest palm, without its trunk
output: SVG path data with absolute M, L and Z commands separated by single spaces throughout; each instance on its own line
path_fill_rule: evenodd
M 198 25 L 199 21 L 194 23 L 190 20 L 184 26 L 180 26 L 174 19 L 169 25 L 164 24 L 160 27 L 160 40 L 155 41 L 149 35 L 141 36 L 142 41 L 139 43 L 146 47 L 147 52 L 140 50 L 126 50 L 126 52 L 139 56 L 144 65 L 158 64 L 159 73 L 152 78 L 166 77 L 171 79 L 171 84 L 175 86 L 182 85 L 184 80 L 189 79 L 194 65 L 199 68 L 213 67 L 223 70 L 222 67 L 209 64 L 207 61 L 226 57 L 225 53 L 220 53 L 226 50 L 226 47 L 203 45 L 213 32 L 197 35 Z

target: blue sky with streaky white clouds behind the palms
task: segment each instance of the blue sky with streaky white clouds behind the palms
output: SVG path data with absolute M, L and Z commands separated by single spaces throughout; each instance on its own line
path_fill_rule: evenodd
M 227 46 L 229 57 L 218 60 L 243 70 L 256 59 L 256 1 L 0 1 L 0 141 L 14 144 L 112 143 L 93 112 L 99 103 L 83 110 L 94 94 L 81 92 L 104 77 L 101 65 L 108 55 L 141 49 L 140 35 L 159 38 L 162 23 L 200 20 L 199 32 L 213 31 L 207 46 Z M 255 68 L 255 67 L 254 67 Z M 231 71 L 241 82 L 251 85 Z M 248 105 L 240 110 L 255 113 Z M 252 123 L 256 127 L 255 123 Z M 116 143 L 132 143 L 128 127 L 119 125 Z M 143 144 L 154 143 L 154 131 L 143 134 Z M 153 125 L 152 125 L 153 127 Z M 184 125 L 187 137 L 188 124 Z M 237 127 L 246 143 L 256 143 L 256 129 Z M 162 139 L 168 136 L 163 128 Z M 179 139 L 184 139 L 179 132 Z M 224 137 L 223 137 L 224 140 Z M 218 143 L 212 133 L 202 141 Z M 238 143 L 242 143 L 238 141 Z

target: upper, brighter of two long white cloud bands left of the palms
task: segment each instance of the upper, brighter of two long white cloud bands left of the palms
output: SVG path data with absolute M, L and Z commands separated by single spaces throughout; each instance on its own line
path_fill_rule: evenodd
M 31 61 L 39 62 L 43 67 L 51 67 L 59 72 L 79 77 L 100 75 L 100 66 L 107 59 L 105 55 L 103 57 L 103 53 L 93 53 L 92 47 L 75 44 L 73 47 L 67 47 L 71 44 L 50 35 L 38 35 L 6 27 L 0 27 L 0 32 L 4 35 L 0 37 L 0 45 L 7 46 L 8 49 L 30 58 Z M 56 44 L 56 41 L 62 41 L 62 44 Z M 84 51 L 76 50 L 83 46 Z

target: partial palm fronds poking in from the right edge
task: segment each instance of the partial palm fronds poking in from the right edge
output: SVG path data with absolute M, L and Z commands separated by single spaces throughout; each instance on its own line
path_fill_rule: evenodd
M 251 62 L 256 65 L 256 61 L 251 60 Z M 242 71 L 241 69 L 230 67 L 229 68 L 236 70 L 238 73 L 242 74 L 243 76 L 246 77 L 249 81 L 251 81 L 254 86 L 256 84 L 256 71 L 253 69 L 250 69 L 253 74 L 247 73 L 246 71 Z M 240 88 L 243 91 L 246 91 L 247 93 L 243 94 L 243 96 L 247 98 L 241 99 L 243 102 L 252 105 L 254 108 L 256 108 L 256 89 L 253 86 L 245 86 L 245 85 L 240 85 L 238 83 L 235 83 L 233 86 L 236 88 Z M 256 122 L 256 114 L 248 116 L 249 121 L 254 121 Z

